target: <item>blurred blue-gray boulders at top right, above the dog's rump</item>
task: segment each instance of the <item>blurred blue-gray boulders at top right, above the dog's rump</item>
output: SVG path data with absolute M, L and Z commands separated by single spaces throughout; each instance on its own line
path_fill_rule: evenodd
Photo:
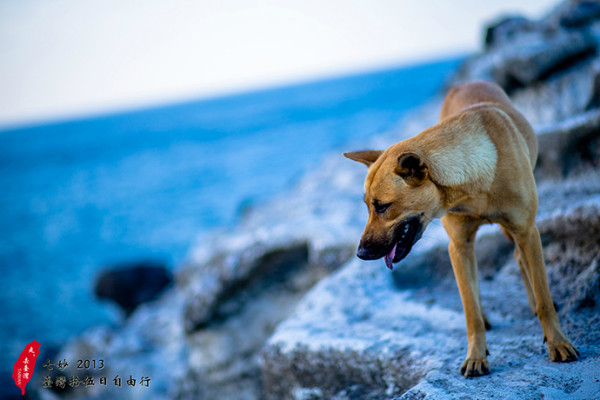
M 497 45 L 468 59 L 447 87 L 478 79 L 495 81 L 534 126 L 594 108 L 600 20 L 590 20 L 582 29 L 564 28 L 561 18 L 577 4 L 563 2 L 538 21 L 518 17 L 500 21 L 498 32 L 492 33 L 499 38 Z M 495 26 L 490 26 L 492 32 Z

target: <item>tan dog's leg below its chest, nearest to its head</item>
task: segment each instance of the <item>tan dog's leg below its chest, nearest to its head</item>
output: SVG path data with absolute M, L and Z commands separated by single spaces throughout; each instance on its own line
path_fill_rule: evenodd
M 442 218 L 442 223 L 450 237 L 448 252 L 467 322 L 469 347 L 460 373 L 467 377 L 487 375 L 490 367 L 487 361 L 485 322 L 479 296 L 474 247 L 475 234 L 480 222 L 474 218 L 447 214 Z

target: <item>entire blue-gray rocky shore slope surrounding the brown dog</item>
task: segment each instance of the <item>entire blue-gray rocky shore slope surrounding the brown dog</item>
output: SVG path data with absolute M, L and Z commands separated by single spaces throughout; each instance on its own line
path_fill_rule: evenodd
M 459 375 L 465 322 L 441 224 L 428 227 L 393 273 L 354 259 L 366 220 L 365 170 L 336 154 L 291 192 L 249 210 L 235 230 L 200 238 L 160 298 L 119 326 L 88 331 L 57 356 L 103 358 L 104 370 L 86 373 L 148 376 L 148 388 L 96 385 L 38 395 L 599 398 L 600 22 L 591 3 L 566 1 L 540 21 L 492 26 L 486 51 L 449 82 L 498 80 L 539 133 L 537 222 L 559 318 L 580 360 L 549 361 L 512 244 L 486 226 L 476 248 L 493 325 L 492 373 Z M 435 124 L 440 105 L 433 99 L 365 147 L 386 148 Z

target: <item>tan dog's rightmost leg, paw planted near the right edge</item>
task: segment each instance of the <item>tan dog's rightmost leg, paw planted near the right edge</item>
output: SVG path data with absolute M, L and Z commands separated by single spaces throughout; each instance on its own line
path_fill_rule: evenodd
M 535 225 L 511 232 L 519 249 L 520 258 L 535 295 L 537 316 L 544 331 L 544 340 L 552 361 L 568 362 L 577 359 L 579 352 L 563 333 L 550 296 L 546 267 L 542 254 L 540 233 Z

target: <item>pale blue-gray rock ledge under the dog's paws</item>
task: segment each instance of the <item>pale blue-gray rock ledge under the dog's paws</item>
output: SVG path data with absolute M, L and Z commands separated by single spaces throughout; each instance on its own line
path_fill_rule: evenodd
M 600 334 L 589 332 L 598 332 L 600 318 L 586 320 L 597 313 L 598 305 L 579 297 L 582 292 L 586 299 L 590 293 L 597 299 L 600 198 L 596 194 L 555 212 L 554 217 L 538 221 L 544 237 L 553 243 L 559 236 L 580 240 L 585 230 L 593 243 L 579 251 L 581 268 L 567 273 L 563 259 L 548 264 L 549 275 L 560 278 L 551 280 L 555 300 L 578 304 L 579 308 L 561 307 L 560 318 L 584 354 L 582 361 L 549 361 L 512 258 L 494 265 L 496 272 L 480 283 L 484 309 L 494 326 L 488 332 L 492 374 L 480 379 L 465 379 L 458 373 L 466 336 L 451 276 L 429 275 L 431 267 L 420 269 L 422 279 L 429 279 L 427 285 L 418 282 L 410 287 L 405 282 L 398 290 L 382 264 L 356 260 L 311 290 L 295 315 L 269 340 L 262 363 L 265 397 L 299 399 L 307 392 L 318 399 L 453 398 L 458 393 L 466 398 L 594 397 L 600 393 L 593 372 L 600 368 Z M 573 226 L 571 230 L 563 229 L 566 222 Z M 494 254 L 499 250 L 492 243 L 506 239 L 484 236 L 476 247 L 486 240 L 490 243 L 479 255 L 497 259 Z M 438 254 L 445 247 L 425 251 L 422 259 L 441 267 Z M 492 254 L 485 254 L 485 249 Z M 552 248 L 545 249 L 547 259 L 552 254 Z M 413 270 L 409 276 L 419 270 L 415 260 L 419 257 L 399 265 L 394 280 L 401 280 L 406 270 Z M 446 270 L 451 271 L 449 262 Z M 582 282 L 584 289 L 573 288 L 574 281 Z

